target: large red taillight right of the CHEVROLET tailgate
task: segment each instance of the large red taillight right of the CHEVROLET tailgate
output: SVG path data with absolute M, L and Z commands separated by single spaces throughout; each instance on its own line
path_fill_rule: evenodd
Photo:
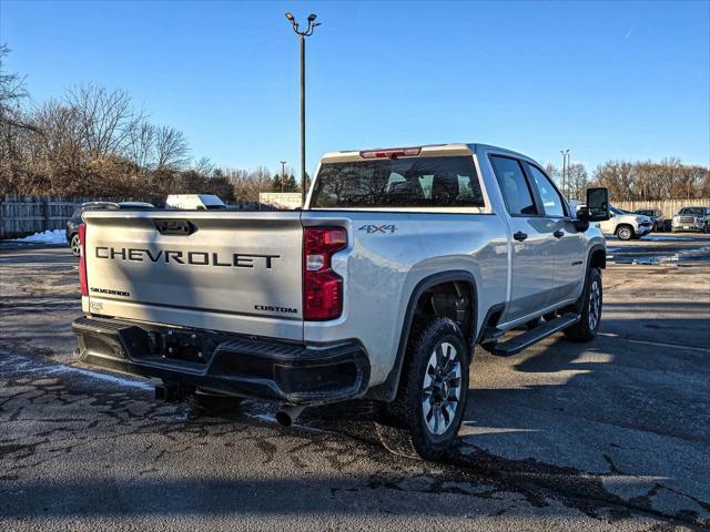
M 331 268 L 331 258 L 346 246 L 347 232 L 341 227 L 303 229 L 304 319 L 323 321 L 343 313 L 343 278 Z

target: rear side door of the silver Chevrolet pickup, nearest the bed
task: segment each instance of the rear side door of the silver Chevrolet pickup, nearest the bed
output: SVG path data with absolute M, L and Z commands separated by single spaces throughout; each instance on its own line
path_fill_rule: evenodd
M 554 289 L 557 238 L 555 225 L 539 211 L 523 163 L 508 155 L 490 155 L 490 164 L 508 211 L 513 235 L 510 304 L 504 321 L 542 309 Z

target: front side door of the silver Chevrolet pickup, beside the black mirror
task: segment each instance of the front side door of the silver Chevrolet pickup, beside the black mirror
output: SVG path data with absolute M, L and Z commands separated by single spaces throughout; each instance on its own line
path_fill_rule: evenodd
M 576 299 L 585 282 L 584 233 L 577 231 L 567 202 L 551 180 L 537 165 L 525 163 L 525 168 L 534 185 L 538 203 L 557 238 L 554 248 L 555 283 L 547 306 L 566 299 Z

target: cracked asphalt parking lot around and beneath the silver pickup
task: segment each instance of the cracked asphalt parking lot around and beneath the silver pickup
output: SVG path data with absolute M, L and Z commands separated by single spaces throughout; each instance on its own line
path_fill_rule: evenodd
M 710 528 L 710 237 L 658 236 L 608 242 L 594 342 L 476 352 L 443 464 L 388 454 L 366 416 L 206 417 L 80 365 L 77 260 L 2 244 L 0 528 Z

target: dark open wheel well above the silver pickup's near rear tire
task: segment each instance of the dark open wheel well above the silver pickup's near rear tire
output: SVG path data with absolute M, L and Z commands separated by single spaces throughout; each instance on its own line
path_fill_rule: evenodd
M 470 283 L 450 280 L 424 290 L 414 309 L 414 319 L 429 317 L 444 317 L 456 321 L 467 341 L 473 341 L 475 308 L 474 287 Z

